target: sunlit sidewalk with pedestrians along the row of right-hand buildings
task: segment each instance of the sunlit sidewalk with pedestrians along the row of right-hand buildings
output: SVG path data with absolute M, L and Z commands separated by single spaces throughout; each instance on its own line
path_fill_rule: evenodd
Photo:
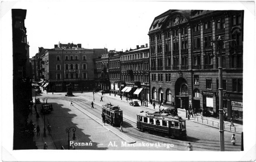
M 95 93 L 94 95 L 102 95 L 101 91 L 99 91 L 98 93 Z M 125 97 L 122 97 L 122 100 L 120 98 L 119 95 L 116 95 L 116 97 L 114 97 L 114 94 L 111 93 L 111 95 L 109 95 L 109 93 L 105 94 L 106 97 L 112 98 L 112 99 L 116 99 L 122 102 L 125 102 L 127 104 L 129 104 L 131 101 L 128 100 L 128 102 L 126 101 Z M 154 101 L 152 101 L 152 103 L 154 103 Z M 150 102 L 148 102 L 148 107 L 146 106 L 142 106 L 144 108 L 150 109 L 150 110 L 154 110 L 154 111 L 159 111 L 159 105 L 158 102 L 156 103 L 156 107 L 154 109 L 153 105 L 150 104 Z M 141 103 L 139 102 L 139 105 L 141 105 Z M 165 108 L 169 108 L 169 107 L 173 107 L 172 105 L 169 104 L 164 104 Z M 188 120 L 188 118 L 186 118 L 186 110 L 185 109 L 178 109 L 178 115 L 180 117 L 182 117 L 183 119 Z M 220 119 L 214 118 L 214 117 L 204 117 L 203 120 L 201 119 L 200 113 L 198 113 L 197 116 L 194 116 L 194 118 L 190 117 L 191 122 L 197 122 L 203 125 L 207 125 L 207 126 L 211 126 L 214 128 L 218 128 L 220 127 Z M 243 125 L 242 124 L 236 124 L 234 123 L 235 126 L 231 126 L 231 130 L 230 130 L 230 122 L 228 121 L 224 121 L 224 130 L 228 131 L 228 132 L 234 132 L 234 133 L 241 133 L 243 131 Z

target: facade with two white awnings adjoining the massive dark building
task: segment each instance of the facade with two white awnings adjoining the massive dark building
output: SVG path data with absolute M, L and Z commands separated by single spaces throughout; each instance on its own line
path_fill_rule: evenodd
M 150 100 L 149 47 L 137 45 L 120 55 L 121 92 L 124 97 Z

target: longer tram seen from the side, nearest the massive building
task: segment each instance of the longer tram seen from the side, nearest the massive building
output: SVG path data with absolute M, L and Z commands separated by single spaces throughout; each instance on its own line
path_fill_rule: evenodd
M 186 120 L 167 113 L 149 113 L 141 111 L 137 114 L 137 128 L 167 134 L 168 137 L 186 138 Z

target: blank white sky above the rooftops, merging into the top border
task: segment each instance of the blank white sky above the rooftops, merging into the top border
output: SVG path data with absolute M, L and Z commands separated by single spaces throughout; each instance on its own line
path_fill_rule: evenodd
M 17 2 L 13 8 L 27 9 L 25 26 L 32 57 L 38 47 L 54 48 L 59 41 L 117 51 L 145 45 L 154 18 L 170 10 L 163 4 L 168 2 L 54 1 Z

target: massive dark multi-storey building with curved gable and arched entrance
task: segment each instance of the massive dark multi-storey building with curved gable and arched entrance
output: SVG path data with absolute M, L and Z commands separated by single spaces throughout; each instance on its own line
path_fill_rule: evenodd
M 221 51 L 223 107 L 228 120 L 242 123 L 243 17 L 238 10 L 168 10 L 154 18 L 148 32 L 152 100 L 218 117 L 218 51 L 206 41 L 234 40 Z

